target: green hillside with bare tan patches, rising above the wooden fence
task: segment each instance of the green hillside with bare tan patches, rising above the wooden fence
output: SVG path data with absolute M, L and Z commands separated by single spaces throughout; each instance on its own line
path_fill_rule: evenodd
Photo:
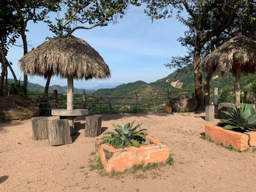
M 203 74 L 203 81 L 206 78 L 206 74 Z M 233 88 L 235 78 L 232 74 L 221 75 L 214 73 L 210 82 L 211 88 Z M 241 77 L 241 88 L 248 85 L 250 82 L 256 80 L 256 74 L 243 75 Z M 182 88 L 173 87 L 172 82 L 182 82 Z M 143 81 L 129 82 L 127 84 L 118 85 L 113 88 L 113 93 L 131 93 L 132 91 L 138 90 L 139 93 L 167 93 L 170 89 L 171 93 L 193 93 L 195 91 L 194 85 L 194 73 L 193 66 L 187 66 L 182 70 L 178 70 L 169 74 L 167 77 L 157 80 L 156 82 L 146 83 Z M 109 89 L 99 89 L 94 93 L 109 93 Z

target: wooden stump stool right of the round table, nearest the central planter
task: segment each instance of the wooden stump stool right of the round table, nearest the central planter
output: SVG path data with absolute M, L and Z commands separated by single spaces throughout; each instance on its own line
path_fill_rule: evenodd
M 97 137 L 102 133 L 102 115 L 86 116 L 84 137 Z

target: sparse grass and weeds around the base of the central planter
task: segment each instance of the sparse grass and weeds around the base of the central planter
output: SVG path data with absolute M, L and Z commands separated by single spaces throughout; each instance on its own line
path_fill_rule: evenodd
M 151 176 L 153 179 L 160 177 L 161 174 L 159 172 L 163 172 L 163 169 L 166 165 L 167 166 L 172 166 L 173 165 L 173 158 L 171 155 L 166 161 L 166 164 L 138 164 L 135 166 L 132 166 L 131 169 L 126 169 L 124 172 L 111 172 L 108 174 L 104 170 L 104 166 L 102 165 L 102 162 L 100 161 L 99 156 L 96 155 L 96 153 L 91 153 L 93 156 L 92 158 L 89 159 L 89 171 L 97 171 L 101 177 L 110 177 L 114 178 L 116 180 L 122 179 L 127 176 L 133 176 L 134 179 L 142 179 L 145 180 L 149 176 Z

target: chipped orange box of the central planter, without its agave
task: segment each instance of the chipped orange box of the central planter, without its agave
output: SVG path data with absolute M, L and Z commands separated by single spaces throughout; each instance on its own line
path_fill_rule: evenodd
M 95 150 L 105 168 L 105 171 L 124 172 L 125 169 L 132 168 L 136 164 L 164 163 L 169 158 L 169 147 L 154 139 L 150 135 L 150 145 L 141 145 L 140 147 L 124 147 L 115 149 L 108 144 L 99 145 L 102 137 L 95 138 Z

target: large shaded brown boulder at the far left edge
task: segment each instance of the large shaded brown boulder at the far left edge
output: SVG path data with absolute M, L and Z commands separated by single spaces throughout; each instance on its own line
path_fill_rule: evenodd
M 39 116 L 39 107 L 30 99 L 19 95 L 0 97 L 0 118 L 8 120 L 25 120 Z

